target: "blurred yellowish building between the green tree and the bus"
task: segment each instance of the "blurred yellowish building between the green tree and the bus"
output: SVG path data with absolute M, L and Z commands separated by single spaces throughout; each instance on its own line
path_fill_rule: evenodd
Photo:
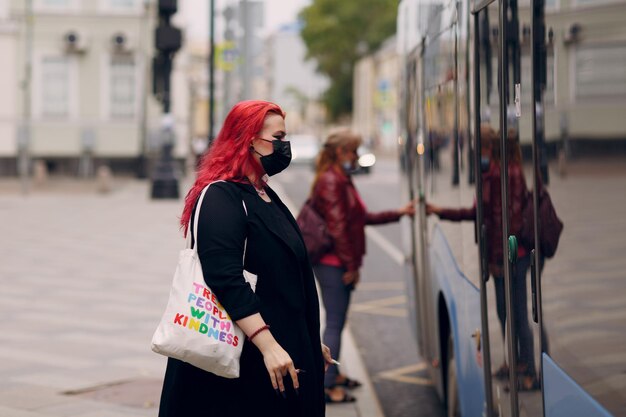
M 395 36 L 354 67 L 352 128 L 380 152 L 396 150 L 399 76 Z

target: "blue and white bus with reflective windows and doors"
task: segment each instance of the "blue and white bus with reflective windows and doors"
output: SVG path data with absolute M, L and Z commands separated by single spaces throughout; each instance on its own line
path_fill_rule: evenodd
M 402 188 L 420 201 L 403 229 L 411 319 L 448 415 L 626 416 L 626 1 L 402 0 L 397 24 Z M 516 138 L 528 188 L 548 191 L 564 226 L 545 262 L 525 245 L 522 286 L 506 157 L 503 277 L 487 266 L 486 124 L 501 155 Z M 539 213 L 540 193 L 528 201 Z M 473 221 L 426 214 L 474 202 Z M 530 219 L 541 241 L 548 226 Z M 513 314 L 527 314 L 531 384 Z

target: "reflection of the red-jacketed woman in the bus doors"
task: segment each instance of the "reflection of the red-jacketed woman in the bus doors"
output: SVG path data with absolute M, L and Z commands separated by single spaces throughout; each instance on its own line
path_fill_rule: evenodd
M 489 274 L 494 277 L 496 309 L 500 322 L 502 339 L 506 328 L 506 297 L 504 285 L 504 251 L 502 247 L 502 192 L 501 152 L 499 134 L 489 125 L 481 126 L 481 170 L 482 170 L 482 211 L 486 229 L 486 247 Z M 519 236 L 523 226 L 523 210 L 528 202 L 528 189 L 521 161 L 521 150 L 516 132 L 509 132 L 507 137 L 508 164 L 508 219 L 509 234 Z M 436 214 L 442 220 L 476 221 L 476 202 L 472 207 L 450 208 L 426 204 L 426 214 Z M 528 322 L 526 275 L 530 266 L 530 250 L 518 245 L 517 262 L 512 269 L 515 301 L 513 307 L 514 323 L 517 335 L 517 373 L 522 389 L 537 388 L 533 354 L 533 333 Z M 495 376 L 507 378 L 509 367 L 503 363 L 495 371 Z

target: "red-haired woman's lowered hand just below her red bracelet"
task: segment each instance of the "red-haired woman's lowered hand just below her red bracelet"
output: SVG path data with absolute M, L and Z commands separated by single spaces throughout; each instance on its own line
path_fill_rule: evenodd
M 293 381 L 293 388 L 297 391 L 300 387 L 298 372 L 289 354 L 278 344 L 271 333 L 267 331 L 259 333 L 254 338 L 254 343 L 263 355 L 263 362 L 265 362 L 274 389 L 280 391 L 283 397 L 285 396 L 283 377 L 289 373 Z

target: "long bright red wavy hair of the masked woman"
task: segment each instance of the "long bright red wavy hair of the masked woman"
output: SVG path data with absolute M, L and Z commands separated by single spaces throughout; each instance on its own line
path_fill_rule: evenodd
M 185 208 L 180 219 L 181 228 L 187 233 L 187 225 L 196 200 L 207 184 L 217 180 L 248 181 L 248 175 L 257 178 L 255 186 L 263 187 L 264 171 L 252 156 L 252 140 L 263 129 L 268 114 L 277 114 L 283 119 L 285 113 L 274 103 L 260 100 L 242 101 L 230 110 L 224 125 L 211 148 L 202 157 L 196 181 L 185 197 Z

